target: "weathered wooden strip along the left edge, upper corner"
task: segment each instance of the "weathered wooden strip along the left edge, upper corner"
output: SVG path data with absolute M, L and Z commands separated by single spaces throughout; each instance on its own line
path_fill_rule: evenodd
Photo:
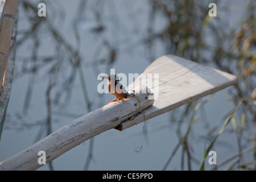
M 13 37 L 17 6 L 18 0 L 6 0 L 5 8 L 2 11 L 2 17 L 0 19 L 0 134 L 5 121 L 5 112 L 9 102 L 11 85 L 13 82 L 13 59 L 15 50 L 13 49 L 10 53 L 9 49 Z M 15 48 L 15 46 L 13 46 L 13 48 Z

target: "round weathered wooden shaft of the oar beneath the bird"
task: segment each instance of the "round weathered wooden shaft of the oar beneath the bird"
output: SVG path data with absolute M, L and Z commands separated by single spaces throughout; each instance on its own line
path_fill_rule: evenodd
M 144 93 L 146 90 L 144 86 L 140 89 L 135 90 L 135 96 L 139 102 L 134 97 L 100 107 L 48 135 L 12 158 L 0 162 L 0 170 L 37 169 L 41 166 L 38 164 L 39 151 L 46 152 L 48 163 L 85 140 L 113 129 L 122 121 L 152 106 L 154 100 L 148 100 L 151 93 Z

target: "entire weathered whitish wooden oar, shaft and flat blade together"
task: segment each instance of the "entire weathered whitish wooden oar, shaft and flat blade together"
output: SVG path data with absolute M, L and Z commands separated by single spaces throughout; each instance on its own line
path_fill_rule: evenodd
M 32 170 L 39 168 L 38 152 L 41 150 L 46 152 L 46 162 L 48 163 L 65 151 L 106 130 L 113 128 L 123 130 L 137 125 L 142 121 L 224 89 L 237 81 L 234 75 L 172 55 L 162 56 L 155 60 L 145 69 L 144 73 L 153 73 L 153 79 L 159 77 L 159 85 L 147 84 L 154 93 L 155 100 L 148 99 L 152 96 L 150 94 L 147 96 L 141 94 L 138 95 L 140 102 L 136 98 L 131 98 L 94 110 L 12 158 L 0 162 L 0 169 Z M 150 80 L 143 76 L 140 75 L 134 83 L 138 83 L 140 78 Z M 154 80 L 151 81 L 154 83 Z M 132 85 L 133 83 L 127 88 L 129 93 L 131 93 L 131 89 L 135 89 L 135 91 L 138 89 L 133 88 Z M 158 93 L 156 92 L 157 88 Z M 140 114 L 141 110 L 143 111 Z M 134 117 L 132 117 L 133 115 Z

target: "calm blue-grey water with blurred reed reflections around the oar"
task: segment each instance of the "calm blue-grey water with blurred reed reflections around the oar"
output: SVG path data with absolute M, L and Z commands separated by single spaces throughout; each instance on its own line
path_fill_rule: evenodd
M 226 89 L 225 97 L 217 94 L 210 101 L 202 99 L 164 114 L 162 118 L 151 119 L 152 123 L 159 120 L 166 122 L 152 126 L 142 124 L 145 125 L 143 130 L 138 127 L 129 129 L 125 133 L 127 138 L 137 131 L 137 138 L 131 141 L 123 139 L 113 142 L 118 145 L 119 142 L 135 141 L 134 148 L 141 148 L 159 139 L 159 133 L 163 130 L 170 129 L 166 132 L 172 133 L 172 137 L 168 136 L 171 139 L 160 138 L 166 140 L 162 143 L 163 146 L 168 145 L 167 148 L 160 146 L 162 149 L 158 150 L 159 146 L 151 144 L 154 151 L 159 153 L 154 158 L 161 159 L 151 160 L 152 156 L 148 154 L 150 159 L 140 161 L 142 164 L 120 167 L 129 161 L 122 161 L 118 157 L 114 163 L 104 161 L 109 156 L 108 152 L 105 156 L 102 148 L 107 148 L 113 155 L 117 155 L 118 151 L 111 144 L 105 146 L 101 139 L 98 142 L 92 139 L 85 142 L 88 144 L 84 144 L 84 148 L 75 150 L 76 154 L 82 151 L 83 155 L 79 154 L 77 158 L 82 158 L 83 164 L 74 164 L 77 168 L 71 165 L 65 169 L 160 170 L 166 165 L 167 169 L 197 170 L 205 148 L 241 100 L 242 105 L 223 138 L 220 136 L 214 144 L 213 149 L 222 148 L 220 163 L 223 167 L 220 165 L 217 169 L 255 169 L 251 162 L 256 156 L 251 147 L 255 141 L 256 122 L 253 94 L 256 88 L 256 2 L 214 1 L 218 12 L 215 18 L 208 16 L 210 2 L 46 1 L 47 16 L 39 18 L 37 2 L 20 1 L 14 86 L 2 135 L 17 130 L 33 130 L 33 137 L 23 146 L 10 149 L 11 153 L 16 154 L 65 123 L 111 100 L 112 96 L 97 93 L 99 73 L 109 73 L 110 68 L 126 74 L 142 73 L 151 61 L 171 53 L 237 75 L 238 84 Z M 214 102 L 214 98 L 219 101 Z M 207 106 L 195 109 L 197 104 L 208 102 L 213 102 L 209 107 L 212 114 L 206 114 Z M 221 118 L 220 122 L 216 122 L 217 118 L 214 120 L 216 113 L 222 114 L 218 117 Z M 195 121 L 201 124 L 194 125 Z M 214 124 L 205 121 L 213 121 Z M 154 131 L 158 137 L 149 138 Z M 121 133 L 113 135 L 119 136 Z M 232 140 L 230 135 L 233 136 Z M 182 143 L 179 143 L 180 139 L 184 139 Z M 10 145 L 4 140 L 7 138 L 2 137 L 1 148 Z M 8 153 L 1 148 L 1 153 Z M 232 155 L 229 155 L 230 148 L 235 148 Z M 162 150 L 167 153 L 162 155 Z M 134 156 L 136 154 L 130 154 L 131 151 L 124 155 L 137 158 Z M 179 157 L 167 163 L 172 155 Z M 5 154 L 0 159 L 9 156 Z M 61 165 L 67 161 L 67 156 L 70 158 L 64 155 L 57 159 L 59 162 L 53 161 L 42 169 L 64 169 Z M 148 160 L 153 164 L 148 164 Z M 150 167 L 145 167 L 147 165 Z M 207 169 L 212 168 L 208 166 Z

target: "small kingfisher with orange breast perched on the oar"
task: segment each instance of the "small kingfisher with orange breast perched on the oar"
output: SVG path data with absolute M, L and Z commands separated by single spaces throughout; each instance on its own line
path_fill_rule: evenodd
M 109 75 L 109 76 L 101 76 L 102 78 L 105 78 L 108 80 L 108 89 L 109 93 L 112 93 L 115 97 L 113 101 L 119 101 L 122 100 L 123 98 L 132 98 L 131 94 L 129 94 L 125 88 L 123 88 L 123 85 L 121 82 L 119 82 L 119 77 L 117 75 Z M 113 90 L 113 91 L 112 91 Z M 111 92 L 112 91 L 112 92 Z M 111 103 L 109 102 L 109 103 Z

